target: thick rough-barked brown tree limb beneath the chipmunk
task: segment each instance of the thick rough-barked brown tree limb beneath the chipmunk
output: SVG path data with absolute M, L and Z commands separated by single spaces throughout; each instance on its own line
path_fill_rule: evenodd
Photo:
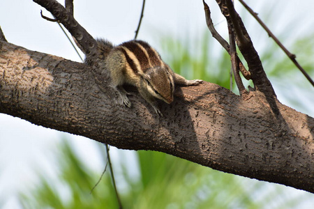
M 0 112 L 117 148 L 158 150 L 206 167 L 314 192 L 314 119 L 263 93 L 177 87 L 165 117 L 133 91 L 133 107 L 87 65 L 0 41 Z M 132 89 L 129 89 L 132 91 Z

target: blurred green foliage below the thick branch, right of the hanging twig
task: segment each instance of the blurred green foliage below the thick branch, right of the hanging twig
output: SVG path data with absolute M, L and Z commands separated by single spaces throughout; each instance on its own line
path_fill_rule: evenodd
M 232 208 L 232 199 L 238 194 L 246 200 L 239 201 L 240 206 L 254 206 L 235 176 L 164 153 L 140 151 L 137 154 L 141 189 L 126 201 L 132 202 L 135 198 L 132 208 Z M 133 189 L 136 188 L 138 185 Z

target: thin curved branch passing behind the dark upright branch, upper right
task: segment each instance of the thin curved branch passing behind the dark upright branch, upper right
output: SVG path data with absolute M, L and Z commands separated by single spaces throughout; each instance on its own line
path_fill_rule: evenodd
M 204 0 L 203 0 L 203 4 L 204 4 L 206 24 L 207 24 L 207 27 L 208 27 L 209 31 L 211 31 L 211 35 L 216 40 L 218 40 L 220 45 L 222 45 L 223 48 L 228 52 L 228 54 L 230 54 L 230 45 L 228 44 L 228 42 L 222 36 L 220 36 L 220 34 L 216 31 L 216 29 L 214 27 L 213 21 L 211 20 L 211 11 L 209 10 L 209 6 L 207 5 L 207 3 L 205 3 Z M 241 71 L 242 75 L 247 80 L 251 79 L 251 73 L 248 72 L 248 70 L 246 70 L 246 68 L 244 67 L 243 63 L 239 59 L 239 56 L 237 56 L 237 60 L 239 62 L 239 68 L 240 68 L 240 71 Z

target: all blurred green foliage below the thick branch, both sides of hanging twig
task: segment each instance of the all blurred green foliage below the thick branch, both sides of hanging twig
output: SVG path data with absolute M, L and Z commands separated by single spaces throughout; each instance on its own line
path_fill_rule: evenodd
M 91 193 L 100 173 L 78 160 L 67 140 L 58 158 L 59 180 L 41 177 L 33 190 L 21 194 L 24 208 L 118 208 L 108 171 Z M 140 175 L 133 178 L 121 164 L 124 208 L 260 208 L 237 176 L 151 151 L 137 152 L 134 163 Z

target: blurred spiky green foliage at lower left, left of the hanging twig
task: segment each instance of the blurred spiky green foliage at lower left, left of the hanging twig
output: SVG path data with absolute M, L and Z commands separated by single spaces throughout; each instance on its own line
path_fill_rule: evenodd
M 99 175 L 91 171 L 75 155 L 73 146 L 63 140 L 58 154 L 58 180 L 40 177 L 40 183 L 28 194 L 21 194 L 24 208 L 118 208 L 110 176 L 102 179 L 91 194 Z M 30 195 L 31 194 L 31 195 Z

